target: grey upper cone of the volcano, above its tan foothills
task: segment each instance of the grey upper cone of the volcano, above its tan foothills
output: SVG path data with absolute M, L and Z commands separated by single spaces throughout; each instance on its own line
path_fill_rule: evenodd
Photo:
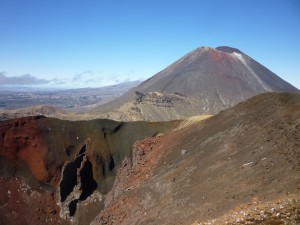
M 198 48 L 137 87 L 141 92 L 220 95 L 224 100 L 262 92 L 298 91 L 276 74 L 230 47 Z M 217 97 L 217 96 L 216 96 Z

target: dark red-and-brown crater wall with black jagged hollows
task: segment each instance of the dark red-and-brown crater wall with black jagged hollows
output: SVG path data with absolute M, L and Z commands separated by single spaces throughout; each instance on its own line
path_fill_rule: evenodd
M 1 121 L 0 224 L 88 224 L 133 143 L 177 123 Z

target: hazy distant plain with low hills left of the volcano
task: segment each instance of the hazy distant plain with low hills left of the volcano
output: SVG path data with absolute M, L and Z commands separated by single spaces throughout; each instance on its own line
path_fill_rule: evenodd
M 139 83 L 129 81 L 99 88 L 75 89 L 0 85 L 0 120 L 37 115 L 68 120 L 96 119 L 99 115 L 87 112 L 120 97 Z

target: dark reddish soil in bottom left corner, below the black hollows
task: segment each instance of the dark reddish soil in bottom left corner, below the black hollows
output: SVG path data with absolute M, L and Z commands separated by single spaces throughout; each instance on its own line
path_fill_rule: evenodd
M 30 187 L 22 179 L 0 178 L 0 224 L 70 224 L 59 217 L 55 194 Z

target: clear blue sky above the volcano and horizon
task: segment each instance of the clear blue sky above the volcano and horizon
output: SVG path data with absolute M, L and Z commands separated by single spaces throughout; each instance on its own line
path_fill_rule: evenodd
M 1 0 L 0 80 L 143 80 L 197 47 L 227 45 L 300 88 L 299 40 L 298 0 Z

